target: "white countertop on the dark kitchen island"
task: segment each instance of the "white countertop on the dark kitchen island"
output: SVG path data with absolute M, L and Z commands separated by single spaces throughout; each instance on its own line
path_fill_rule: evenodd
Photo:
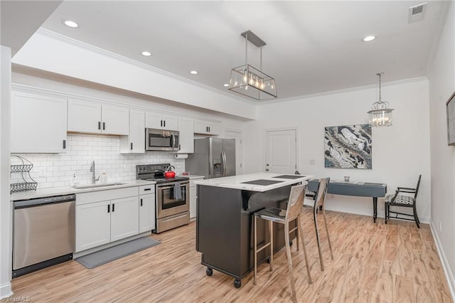
M 282 176 L 282 175 L 299 176 L 300 178 L 297 178 L 297 179 L 276 178 L 277 176 Z M 228 177 L 215 178 L 215 179 L 196 180 L 196 181 L 194 181 L 194 183 L 198 184 L 198 185 L 243 189 L 243 190 L 247 190 L 247 191 L 269 191 L 270 189 L 288 186 L 291 184 L 296 184 L 297 182 L 304 182 L 304 184 L 306 184 L 306 181 L 309 179 L 312 179 L 312 178 L 314 178 L 314 176 L 294 175 L 294 174 L 255 173 L 255 174 L 228 176 Z M 255 180 L 259 180 L 259 179 L 271 180 L 271 181 L 281 181 L 281 182 L 276 183 L 276 184 L 270 184 L 270 185 L 255 185 L 255 184 L 242 183 L 242 182 L 246 182 L 246 181 L 255 181 Z

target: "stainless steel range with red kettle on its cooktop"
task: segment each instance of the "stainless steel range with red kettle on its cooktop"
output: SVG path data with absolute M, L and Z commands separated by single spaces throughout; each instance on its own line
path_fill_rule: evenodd
M 156 229 L 161 233 L 190 223 L 190 181 L 187 177 L 165 178 L 169 163 L 136 166 L 136 179 L 155 181 Z

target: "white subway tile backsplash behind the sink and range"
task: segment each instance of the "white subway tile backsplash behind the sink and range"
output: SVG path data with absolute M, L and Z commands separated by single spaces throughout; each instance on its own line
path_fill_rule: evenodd
M 33 163 L 31 177 L 38 188 L 70 186 L 76 174 L 81 184 L 91 182 L 90 165 L 95 160 L 96 175 L 107 174 L 108 181 L 136 179 L 136 165 L 170 163 L 176 173 L 185 171 L 185 160 L 175 159 L 174 154 L 163 151 L 148 151 L 145 154 L 120 154 L 120 139 L 117 136 L 95 134 L 68 134 L 67 150 L 63 154 L 18 154 Z M 11 157 L 11 163 L 16 161 Z M 25 173 L 27 179 L 28 175 Z M 11 183 L 23 182 L 21 174 L 11 174 Z

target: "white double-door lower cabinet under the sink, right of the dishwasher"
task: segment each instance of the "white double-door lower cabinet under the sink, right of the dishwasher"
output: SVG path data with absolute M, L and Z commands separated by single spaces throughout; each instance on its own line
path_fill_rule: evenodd
M 139 233 L 138 186 L 76 194 L 76 252 Z

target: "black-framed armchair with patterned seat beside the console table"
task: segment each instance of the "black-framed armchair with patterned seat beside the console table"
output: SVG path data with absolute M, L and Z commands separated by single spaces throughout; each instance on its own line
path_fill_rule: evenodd
M 419 192 L 420 179 L 422 179 L 422 175 L 419 175 L 419 180 L 417 181 L 417 186 L 415 188 L 397 187 L 395 194 L 387 195 L 385 197 L 385 201 L 384 201 L 385 224 L 387 224 L 387 220 L 390 219 L 390 213 L 395 213 L 395 218 L 414 221 L 415 224 L 417 225 L 417 228 L 420 228 L 420 221 L 419 221 L 419 217 L 417 216 L 417 208 L 416 208 L 416 199 L 417 199 L 417 193 Z M 400 193 L 405 193 L 405 195 L 400 195 Z M 406 193 L 410 194 L 410 195 L 407 195 Z M 398 213 L 397 211 L 390 211 L 390 206 L 401 206 L 401 207 L 412 208 L 412 215 L 410 215 L 408 213 Z M 413 218 L 412 219 L 407 218 L 407 217 L 403 218 L 403 217 L 398 217 L 398 215 L 413 217 Z

